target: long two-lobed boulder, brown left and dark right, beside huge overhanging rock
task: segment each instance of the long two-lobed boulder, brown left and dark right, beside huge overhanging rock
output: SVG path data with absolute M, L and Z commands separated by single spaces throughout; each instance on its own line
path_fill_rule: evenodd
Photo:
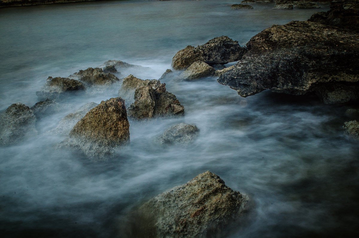
M 227 36 L 216 37 L 207 43 L 197 46 L 187 46 L 178 51 L 172 59 L 172 67 L 175 70 L 183 70 L 196 61 L 203 61 L 208 65 L 226 64 L 238 61 L 247 52 L 238 41 L 233 41 Z

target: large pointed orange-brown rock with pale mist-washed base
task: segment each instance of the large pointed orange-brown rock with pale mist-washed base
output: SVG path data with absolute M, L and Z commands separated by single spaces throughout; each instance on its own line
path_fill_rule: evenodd
M 73 147 L 92 160 L 104 160 L 130 142 L 125 101 L 111 98 L 91 109 L 71 130 L 60 147 Z

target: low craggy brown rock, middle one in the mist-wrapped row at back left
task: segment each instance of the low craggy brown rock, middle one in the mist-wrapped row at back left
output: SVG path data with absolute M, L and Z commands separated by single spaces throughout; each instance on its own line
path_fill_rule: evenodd
M 110 85 L 119 79 L 112 73 L 103 72 L 102 68 L 87 68 L 70 75 L 69 78 L 76 78 L 89 86 Z

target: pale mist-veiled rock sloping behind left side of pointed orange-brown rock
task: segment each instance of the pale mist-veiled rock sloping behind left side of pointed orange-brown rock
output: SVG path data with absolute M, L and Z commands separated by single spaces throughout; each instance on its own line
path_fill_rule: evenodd
M 76 123 L 79 122 L 89 110 L 97 106 L 97 103 L 87 103 L 83 105 L 80 109 L 76 110 L 74 113 L 70 113 L 62 118 L 56 128 L 53 128 L 48 131 L 48 134 L 57 134 L 61 136 L 66 136 L 70 133 Z

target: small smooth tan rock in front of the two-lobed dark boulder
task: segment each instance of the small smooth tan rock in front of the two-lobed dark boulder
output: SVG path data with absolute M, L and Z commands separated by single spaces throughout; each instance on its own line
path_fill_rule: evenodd
M 203 61 L 192 63 L 177 79 L 196 80 L 199 78 L 213 76 L 215 69 Z

